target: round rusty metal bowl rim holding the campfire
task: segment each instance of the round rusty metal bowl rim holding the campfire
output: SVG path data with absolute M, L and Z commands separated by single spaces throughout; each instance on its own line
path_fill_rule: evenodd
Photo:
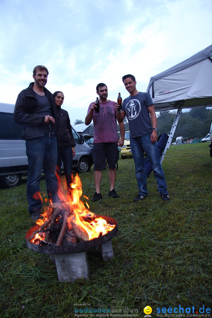
M 100 236 L 96 239 L 92 239 L 90 241 L 86 242 L 80 242 L 80 243 L 75 243 L 72 245 L 60 245 L 60 246 L 55 246 L 55 245 L 37 245 L 34 243 L 30 243 L 28 239 L 31 237 L 34 231 L 37 231 L 40 225 L 36 224 L 33 226 L 29 231 L 26 232 L 25 234 L 25 239 L 26 239 L 26 245 L 28 248 L 30 248 L 34 252 L 38 253 L 44 253 L 44 254 L 67 254 L 67 253 L 76 253 L 76 252 L 82 252 L 89 250 L 93 247 L 102 245 L 106 243 L 107 241 L 110 241 L 113 239 L 113 237 L 117 234 L 118 231 L 118 226 L 116 220 L 113 218 L 97 215 L 97 218 L 101 217 L 107 221 L 107 223 L 116 225 L 113 230 L 109 231 L 107 234 Z

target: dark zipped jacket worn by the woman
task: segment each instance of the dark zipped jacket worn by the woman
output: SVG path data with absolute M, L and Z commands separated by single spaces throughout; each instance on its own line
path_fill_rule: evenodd
M 74 136 L 72 133 L 72 126 L 70 124 L 70 119 L 68 112 L 61 107 L 57 107 L 58 113 L 58 123 L 56 130 L 56 137 L 58 142 L 58 147 L 61 146 L 72 146 L 76 145 Z M 68 130 L 68 131 L 67 131 Z

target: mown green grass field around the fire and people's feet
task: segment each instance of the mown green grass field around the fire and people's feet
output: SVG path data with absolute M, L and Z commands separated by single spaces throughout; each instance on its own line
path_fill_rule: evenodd
M 88 281 L 59 283 L 49 256 L 26 247 L 24 235 L 35 224 L 28 214 L 26 178 L 18 187 L 1 188 L 0 317 L 72 318 L 76 303 L 138 309 L 138 317 L 144 316 L 147 305 L 153 317 L 157 307 L 211 308 L 212 158 L 208 143 L 171 146 L 162 166 L 169 202 L 161 200 L 153 174 L 147 178 L 149 196 L 133 202 L 138 189 L 132 158 L 119 160 L 119 199 L 108 197 L 108 170 L 103 171 L 103 199 L 88 203 L 92 212 L 115 218 L 118 233 L 112 239 L 113 260 L 103 262 L 96 249 L 88 251 Z M 92 198 L 93 169 L 79 176 L 83 194 Z M 41 190 L 46 193 L 43 179 Z

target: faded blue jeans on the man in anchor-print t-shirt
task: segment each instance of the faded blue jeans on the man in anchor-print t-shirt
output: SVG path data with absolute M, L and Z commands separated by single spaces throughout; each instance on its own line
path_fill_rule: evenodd
M 148 195 L 147 177 L 144 163 L 144 152 L 151 162 L 154 176 L 157 180 L 157 188 L 160 194 L 168 194 L 167 184 L 160 162 L 160 154 L 157 143 L 152 143 L 151 134 L 142 137 L 130 138 L 130 147 L 135 162 L 135 175 L 138 183 L 139 194 Z

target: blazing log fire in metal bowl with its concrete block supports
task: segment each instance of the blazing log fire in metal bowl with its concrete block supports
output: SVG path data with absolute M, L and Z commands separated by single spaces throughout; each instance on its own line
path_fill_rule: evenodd
M 111 239 L 117 233 L 117 222 L 89 211 L 88 203 L 85 202 L 87 209 L 80 200 L 81 195 L 82 184 L 79 176 L 76 175 L 69 203 L 49 206 L 43 214 L 44 219 L 39 219 L 37 225 L 25 235 L 27 246 L 31 250 L 55 256 L 59 281 L 89 277 L 90 270 L 85 252 L 88 249 L 99 246 L 103 260 L 113 258 Z M 83 254 L 80 256 L 79 252 Z M 70 253 L 75 255 L 65 255 Z M 79 269 L 79 263 L 82 265 L 82 271 Z M 63 266 L 60 266 L 61 264 Z M 68 264 L 71 273 L 66 274 Z M 75 267 L 77 273 L 74 273 Z

